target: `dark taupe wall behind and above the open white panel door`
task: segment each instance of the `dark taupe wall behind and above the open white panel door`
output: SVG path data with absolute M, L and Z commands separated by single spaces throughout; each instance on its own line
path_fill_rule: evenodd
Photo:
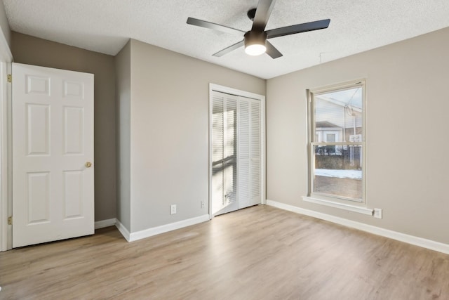
M 16 63 L 95 74 L 95 221 L 116 217 L 114 57 L 12 32 Z

